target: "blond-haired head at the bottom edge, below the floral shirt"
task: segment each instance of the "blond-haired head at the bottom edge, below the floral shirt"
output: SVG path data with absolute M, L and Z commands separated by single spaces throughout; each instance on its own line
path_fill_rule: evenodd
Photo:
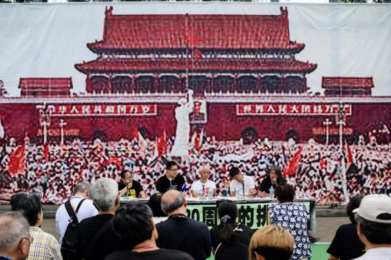
M 257 230 L 248 248 L 249 260 L 289 260 L 295 240 L 281 226 L 267 225 Z

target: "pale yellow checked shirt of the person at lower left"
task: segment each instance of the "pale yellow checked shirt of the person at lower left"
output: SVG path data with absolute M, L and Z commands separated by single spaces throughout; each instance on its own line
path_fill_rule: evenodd
M 35 226 L 30 226 L 30 234 L 34 240 L 31 243 L 27 260 L 63 259 L 59 249 L 59 242 L 52 235 Z

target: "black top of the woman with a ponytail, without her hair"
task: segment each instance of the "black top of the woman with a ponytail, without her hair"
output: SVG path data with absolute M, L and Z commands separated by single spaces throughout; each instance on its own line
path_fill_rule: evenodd
M 236 228 L 236 224 L 234 229 Z M 210 230 L 210 237 L 212 240 L 212 246 L 214 250 L 217 249 L 221 241 L 218 240 L 218 232 L 222 229 L 223 224 L 216 225 Z M 251 237 L 253 236 L 253 230 L 248 226 L 240 224 L 239 228 L 243 231 L 235 231 L 238 236 L 233 239 L 231 244 L 222 243 L 214 255 L 215 260 L 247 260 L 248 259 L 248 245 L 250 244 Z

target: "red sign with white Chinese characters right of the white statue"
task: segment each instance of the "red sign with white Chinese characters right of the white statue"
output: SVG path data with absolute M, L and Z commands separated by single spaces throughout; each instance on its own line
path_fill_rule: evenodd
M 237 115 L 344 115 L 352 114 L 350 104 L 238 104 Z

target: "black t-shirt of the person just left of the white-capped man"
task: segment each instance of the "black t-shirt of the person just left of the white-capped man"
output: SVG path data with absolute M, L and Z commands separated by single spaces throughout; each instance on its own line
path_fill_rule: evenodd
M 357 227 L 355 224 L 341 225 L 336 236 L 332 239 L 332 242 L 327 253 L 333 256 L 340 257 L 341 260 L 350 260 L 357 258 L 365 253 L 365 245 L 357 235 Z

